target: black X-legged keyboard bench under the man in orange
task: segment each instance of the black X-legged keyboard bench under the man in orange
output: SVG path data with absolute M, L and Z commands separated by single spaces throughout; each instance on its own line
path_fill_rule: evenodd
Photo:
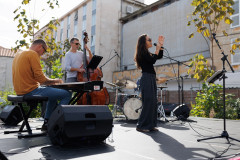
M 28 123 L 28 118 L 33 111 L 33 109 L 37 108 L 38 103 L 43 103 L 47 101 L 48 97 L 33 95 L 33 96 L 17 96 L 17 95 L 8 95 L 8 101 L 11 101 L 14 105 L 17 105 L 20 108 L 20 112 L 22 114 L 23 123 L 19 130 L 17 131 L 5 131 L 4 134 L 9 133 L 21 133 L 21 132 L 28 132 L 28 134 L 22 135 L 19 134 L 18 138 L 29 138 L 29 137 L 38 137 L 47 135 L 46 132 L 42 133 L 32 133 L 31 127 Z M 29 108 L 28 113 L 26 114 L 23 110 L 23 103 L 26 103 Z M 23 130 L 24 126 L 26 126 L 27 130 Z

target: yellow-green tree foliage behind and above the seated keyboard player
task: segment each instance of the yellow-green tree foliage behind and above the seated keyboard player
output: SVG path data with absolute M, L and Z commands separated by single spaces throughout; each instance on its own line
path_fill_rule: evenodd
M 39 31 L 41 32 L 38 37 L 35 36 L 35 31 L 39 30 L 40 21 L 37 19 L 31 19 L 27 16 L 27 12 L 24 9 L 31 0 L 22 0 L 22 5 L 19 6 L 14 13 L 16 17 L 14 20 L 18 20 L 18 32 L 23 35 L 22 40 L 16 41 L 16 47 L 14 48 L 17 51 L 21 47 L 29 48 L 30 43 L 33 39 L 41 38 L 43 39 L 47 46 L 47 53 L 45 53 L 41 65 L 44 68 L 44 72 L 50 78 L 62 78 L 64 75 L 64 71 L 61 68 L 61 58 L 65 55 L 65 51 L 69 49 L 70 44 L 67 43 L 68 40 L 61 44 L 61 42 L 57 42 L 54 38 L 54 32 L 57 31 L 57 26 L 59 26 L 59 22 L 56 19 L 50 20 L 50 22 L 46 25 L 46 29 L 44 28 Z M 58 0 L 48 0 L 46 1 L 48 7 L 50 9 L 54 9 L 55 6 L 58 5 Z M 42 11 L 44 11 L 43 9 Z M 27 39 L 30 39 L 30 43 L 27 42 Z

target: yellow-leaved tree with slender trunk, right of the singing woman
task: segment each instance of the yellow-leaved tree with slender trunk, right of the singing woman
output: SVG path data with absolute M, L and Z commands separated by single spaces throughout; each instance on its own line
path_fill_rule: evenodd
M 211 51 L 210 58 L 211 58 L 211 64 L 208 65 L 210 67 L 210 70 L 214 67 L 214 61 L 213 61 L 213 33 L 217 33 L 218 27 L 221 23 L 231 24 L 233 21 L 230 19 L 229 16 L 231 16 L 234 13 L 234 9 L 232 8 L 232 5 L 234 4 L 233 0 L 193 0 L 192 6 L 194 7 L 194 10 L 188 18 L 190 20 L 188 21 L 188 26 L 194 25 L 197 29 L 197 32 L 200 33 L 204 39 L 206 40 L 206 43 L 209 46 L 209 49 Z M 222 30 L 222 33 L 227 36 L 225 30 Z M 193 38 L 194 33 L 191 33 L 189 35 L 189 38 Z M 211 46 L 211 47 L 210 47 Z M 234 45 L 236 48 L 237 46 Z M 233 52 L 232 52 L 233 53 Z M 189 73 L 193 74 L 193 77 L 199 77 L 199 75 L 203 76 L 200 79 L 207 79 L 207 77 L 211 76 L 211 73 L 213 71 L 203 71 L 207 69 L 206 67 L 200 67 L 200 68 L 194 68 L 197 63 L 202 63 L 202 61 L 194 61 L 197 60 L 196 58 L 191 59 L 191 63 L 194 63 L 195 65 L 192 65 L 193 68 L 190 68 L 191 71 Z M 201 66 L 201 64 L 199 65 Z M 209 68 L 207 69 L 209 70 Z M 205 74 L 202 74 L 205 73 Z M 199 79 L 198 79 L 199 80 Z

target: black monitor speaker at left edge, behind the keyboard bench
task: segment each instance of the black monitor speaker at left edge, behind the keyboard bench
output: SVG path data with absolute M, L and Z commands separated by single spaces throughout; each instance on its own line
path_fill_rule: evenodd
M 15 126 L 23 120 L 19 107 L 14 105 L 7 105 L 3 108 L 0 119 L 6 125 Z

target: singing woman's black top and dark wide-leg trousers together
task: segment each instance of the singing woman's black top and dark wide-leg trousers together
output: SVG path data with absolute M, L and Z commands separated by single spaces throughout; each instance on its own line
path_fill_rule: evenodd
M 138 129 L 152 130 L 157 127 L 157 84 L 153 64 L 162 57 L 163 50 L 158 55 L 147 53 L 143 57 L 144 61 L 139 63 L 142 69 L 140 86 L 143 109 L 138 119 Z

